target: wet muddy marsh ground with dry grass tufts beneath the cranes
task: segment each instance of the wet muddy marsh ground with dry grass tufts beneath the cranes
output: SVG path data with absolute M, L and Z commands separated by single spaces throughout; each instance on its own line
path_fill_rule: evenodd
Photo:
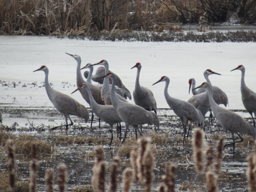
M 8 137 L 20 141 L 17 141 L 17 145 L 19 146 L 16 149 L 18 151 L 16 154 L 16 169 L 18 175 L 25 180 L 29 178 L 30 163 L 29 147 L 27 145 L 31 140 L 42 141 L 40 144 L 41 153 L 38 153 L 38 191 L 45 191 L 44 174 L 45 170 L 49 167 L 52 167 L 54 170 L 55 189 L 58 188 L 57 166 L 60 162 L 65 163 L 68 167 L 68 191 L 79 185 L 91 185 L 93 150 L 97 145 L 104 148 L 108 165 L 113 159 L 113 156 L 119 155 L 121 156 L 122 170 L 131 166 L 129 151 L 135 143 L 134 130 L 132 128 L 129 130 L 124 145 L 121 145 L 117 139 L 116 130 L 114 130 L 114 142 L 111 148 L 109 148 L 109 126 L 102 122 L 101 128 L 99 128 L 98 118 L 95 119 L 93 128 L 90 129 L 90 123 L 85 124 L 73 116 L 71 118 L 75 123 L 69 127 L 68 133 L 66 133 L 65 127 L 63 129 L 49 131 L 49 128 L 53 126 L 51 125 L 52 122 L 56 125 L 65 122 L 64 117 L 55 108 L 1 107 L 1 109 L 3 113 L 3 125 L 1 127 L 0 137 L 0 169 L 1 171 L 7 171 L 7 155 L 3 137 L 7 131 L 9 131 L 7 133 Z M 245 111 L 239 111 L 237 113 L 245 114 Z M 183 129 L 179 118 L 173 115 L 172 110 L 167 109 L 159 109 L 158 115 L 161 126 L 156 135 L 152 127 L 146 125 L 142 127 L 143 135 L 151 137 L 153 140 L 156 163 L 152 190 L 156 191 L 157 186 L 161 183 L 161 177 L 164 174 L 164 163 L 167 161 L 174 162 L 178 165 L 177 191 L 188 190 L 193 187 L 195 190 L 205 190 L 205 177 L 199 177 L 194 169 L 191 147 L 192 134 L 189 135 L 187 144 L 183 145 Z M 251 121 L 251 119 L 247 120 Z M 213 125 L 209 124 L 208 118 L 206 118 L 205 122 L 208 145 L 215 146 L 220 136 L 225 137 L 226 142 L 230 141 L 231 134 L 223 131 L 216 120 L 214 120 Z M 124 124 L 122 126 L 123 135 Z M 254 143 L 252 138 L 248 137 L 245 137 L 243 143 L 236 145 L 234 156 L 232 147 L 224 150 L 223 165 L 218 179 L 220 190 L 247 191 L 246 157 L 252 150 L 254 150 Z M 107 170 L 107 178 L 109 178 L 108 176 L 109 169 Z M 120 184 L 119 190 L 121 189 L 122 186 Z M 141 185 L 133 185 L 132 187 L 132 191 L 142 189 L 143 187 Z

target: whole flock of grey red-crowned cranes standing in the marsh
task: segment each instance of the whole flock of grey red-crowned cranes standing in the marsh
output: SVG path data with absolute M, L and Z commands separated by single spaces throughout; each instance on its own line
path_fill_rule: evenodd
M 100 62 L 95 63 L 93 65 L 91 63 L 88 63 L 85 67 L 81 68 L 81 57 L 79 57 L 79 55 L 73 55 L 69 53 L 67 54 L 77 61 L 77 89 L 74 92 L 79 91 L 82 94 L 82 97 L 85 99 L 85 101 L 89 103 L 92 109 L 92 121 L 93 113 L 95 113 L 102 121 L 110 125 L 111 141 L 109 146 L 111 146 L 111 143 L 113 142 L 114 124 L 117 124 L 117 135 L 119 132 L 121 140 L 120 123 L 125 123 L 125 135 L 122 142 L 125 141 L 125 138 L 127 136 L 127 130 L 130 125 L 132 125 L 136 133 L 138 131 L 140 135 L 142 135 L 142 133 L 138 129 L 139 125 L 148 124 L 154 125 L 155 127 L 159 128 L 159 118 L 156 115 L 157 105 L 153 92 L 151 92 L 146 87 L 141 86 L 139 82 L 141 63 L 138 62 L 136 63 L 135 66 L 131 68 L 137 68 L 135 89 L 133 91 L 133 99 L 135 103 L 134 105 L 132 103 L 127 102 L 126 98 L 131 99 L 131 94 L 129 90 L 127 90 L 126 87 L 123 85 L 121 79 L 116 74 L 109 71 L 109 64 L 106 60 L 101 60 Z M 102 65 L 103 67 L 100 67 L 100 69 L 98 68 L 97 74 L 93 76 L 93 66 L 95 65 Z M 84 73 L 87 77 L 86 82 L 84 81 L 81 74 L 81 70 L 84 68 L 90 69 L 89 73 Z M 85 122 L 87 122 L 89 119 L 89 111 L 73 98 L 69 97 L 66 94 L 55 91 L 51 88 L 48 82 L 49 70 L 47 69 L 47 67 L 42 66 L 41 68 L 35 71 L 38 70 L 43 70 L 45 73 L 45 89 L 49 99 L 53 103 L 54 107 L 58 111 L 60 111 L 60 113 L 62 113 L 66 118 L 66 125 L 63 126 L 66 126 L 66 129 L 68 130 L 68 126 L 73 125 L 73 122 L 71 121 L 69 115 L 77 115 L 80 118 L 84 118 Z M 252 118 L 252 113 L 254 113 L 255 118 L 256 93 L 251 91 L 245 85 L 245 68 L 241 65 L 233 70 L 242 71 L 242 101 L 244 107 L 249 111 Z M 217 118 L 218 122 L 223 127 L 223 129 L 228 130 L 232 133 L 234 142 L 228 143 L 227 145 L 233 144 L 235 149 L 235 143 L 241 142 L 243 140 L 239 133 L 252 135 L 252 137 L 255 139 L 255 119 L 253 118 L 253 127 L 253 125 L 246 122 L 238 114 L 235 114 L 234 112 L 219 106 L 220 104 L 227 106 L 228 98 L 225 92 L 223 92 L 219 87 L 212 86 L 209 79 L 209 75 L 212 74 L 221 75 L 215 73 L 210 69 L 205 70 L 204 77 L 207 82 L 203 83 L 198 87 L 195 87 L 196 82 L 194 78 L 189 79 L 189 92 L 192 87 L 192 92 L 194 96 L 190 98 L 188 102 L 180 99 L 175 99 L 169 95 L 168 86 L 170 83 L 170 79 L 167 76 L 161 77 L 161 79 L 159 79 L 159 81 L 157 81 L 153 85 L 159 82 L 165 82 L 164 96 L 167 104 L 170 106 L 170 108 L 174 111 L 174 113 L 180 118 L 180 121 L 182 122 L 184 130 L 183 142 L 186 141 L 187 125 L 191 122 L 194 122 L 198 126 L 202 126 L 204 128 L 205 115 L 207 111 L 209 111 L 209 109 L 212 108 L 214 116 Z M 96 82 L 102 83 L 102 85 L 93 85 L 91 80 L 95 80 Z M 155 113 L 151 112 L 152 110 L 154 110 Z M 67 118 L 69 118 L 70 124 L 67 123 Z M 53 127 L 53 129 L 56 129 L 57 127 Z M 235 142 L 234 133 L 236 133 L 238 137 L 241 138 L 241 141 Z

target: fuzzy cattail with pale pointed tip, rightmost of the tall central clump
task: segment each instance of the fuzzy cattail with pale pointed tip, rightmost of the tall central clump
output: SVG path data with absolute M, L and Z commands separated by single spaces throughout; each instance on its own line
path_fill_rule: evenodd
M 150 192 L 151 191 L 151 182 L 153 179 L 153 169 L 154 169 L 154 157 L 152 154 L 150 142 L 148 142 L 148 144 L 146 146 L 146 151 L 142 158 L 142 165 L 144 167 L 143 175 L 145 177 L 144 189 L 145 189 L 145 191 Z

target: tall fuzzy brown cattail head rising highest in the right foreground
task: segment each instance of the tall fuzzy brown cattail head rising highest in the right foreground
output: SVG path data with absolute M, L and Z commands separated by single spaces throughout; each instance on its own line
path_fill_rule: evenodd
M 204 156 L 204 132 L 201 128 L 194 129 L 194 140 L 193 140 L 193 158 L 196 164 L 196 172 L 198 174 L 203 174 L 204 170 L 204 163 L 203 163 L 203 156 Z

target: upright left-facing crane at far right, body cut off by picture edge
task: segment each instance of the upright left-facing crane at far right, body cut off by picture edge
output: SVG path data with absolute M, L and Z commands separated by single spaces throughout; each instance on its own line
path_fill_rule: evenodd
M 250 90 L 245 85 L 245 82 L 244 82 L 245 67 L 242 65 L 239 65 L 237 68 L 235 68 L 233 70 L 241 70 L 241 72 L 242 72 L 242 78 L 241 78 L 242 101 L 243 101 L 245 109 L 252 116 L 253 126 L 255 127 L 256 93 L 254 93 L 252 90 Z M 233 71 L 233 70 L 231 70 L 231 71 Z M 252 113 L 254 113 L 254 118 L 253 118 Z

